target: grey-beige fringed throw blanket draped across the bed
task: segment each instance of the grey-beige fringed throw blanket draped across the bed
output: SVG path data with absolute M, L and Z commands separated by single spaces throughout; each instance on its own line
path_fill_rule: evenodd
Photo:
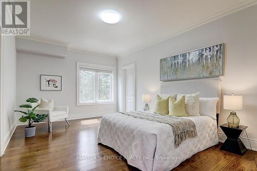
M 177 148 L 182 141 L 197 137 L 195 124 L 190 119 L 163 116 L 142 111 L 125 111 L 120 113 L 134 118 L 169 124 L 172 127 L 175 148 Z

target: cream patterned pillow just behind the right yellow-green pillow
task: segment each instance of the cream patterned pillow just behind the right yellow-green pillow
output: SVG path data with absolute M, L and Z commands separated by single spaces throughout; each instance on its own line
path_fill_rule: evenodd
M 182 96 L 185 95 L 186 100 L 186 112 L 189 116 L 200 116 L 199 115 L 199 98 L 200 93 L 194 93 L 194 94 L 177 94 L 177 99 L 181 99 Z

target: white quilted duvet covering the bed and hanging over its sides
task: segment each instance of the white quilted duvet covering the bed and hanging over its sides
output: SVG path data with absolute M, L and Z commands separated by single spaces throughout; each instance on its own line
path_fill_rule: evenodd
M 195 123 L 197 137 L 183 141 L 177 148 L 170 125 L 121 113 L 103 116 L 98 142 L 115 149 L 128 164 L 141 170 L 171 170 L 218 143 L 216 120 L 208 116 L 185 118 Z

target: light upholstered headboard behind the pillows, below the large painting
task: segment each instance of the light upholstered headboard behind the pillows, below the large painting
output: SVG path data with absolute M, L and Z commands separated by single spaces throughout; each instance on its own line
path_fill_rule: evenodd
M 217 102 L 217 113 L 221 113 L 221 79 L 197 79 L 181 80 L 172 82 L 161 82 L 160 93 L 191 94 L 200 92 L 202 98 L 219 98 Z

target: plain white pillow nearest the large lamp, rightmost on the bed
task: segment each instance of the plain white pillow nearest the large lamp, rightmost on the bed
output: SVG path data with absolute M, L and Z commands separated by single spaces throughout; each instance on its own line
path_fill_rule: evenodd
M 218 98 L 200 98 L 200 115 L 216 118 Z

